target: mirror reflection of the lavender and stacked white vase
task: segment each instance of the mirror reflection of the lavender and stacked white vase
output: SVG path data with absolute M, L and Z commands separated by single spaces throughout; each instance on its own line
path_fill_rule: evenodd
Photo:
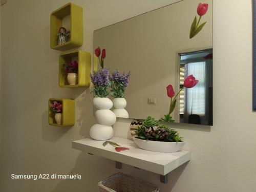
M 114 97 L 113 101 L 113 112 L 116 117 L 129 118 L 128 112 L 124 109 L 126 106 L 126 100 L 124 98 L 124 91 L 128 86 L 131 73 L 120 73 L 115 71 L 110 77 L 110 88 L 111 95 Z

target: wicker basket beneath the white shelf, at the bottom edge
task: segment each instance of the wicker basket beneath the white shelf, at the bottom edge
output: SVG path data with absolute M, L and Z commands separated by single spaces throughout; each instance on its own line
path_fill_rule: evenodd
M 159 188 L 130 175 L 117 173 L 98 183 L 100 192 L 159 192 Z

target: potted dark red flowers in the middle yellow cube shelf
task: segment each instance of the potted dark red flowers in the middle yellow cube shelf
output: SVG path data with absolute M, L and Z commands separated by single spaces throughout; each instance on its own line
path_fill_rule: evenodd
M 78 63 L 75 60 L 74 62 L 69 62 L 68 64 L 63 64 L 63 68 L 68 73 L 67 79 L 71 86 L 74 86 L 77 83 L 77 71 Z

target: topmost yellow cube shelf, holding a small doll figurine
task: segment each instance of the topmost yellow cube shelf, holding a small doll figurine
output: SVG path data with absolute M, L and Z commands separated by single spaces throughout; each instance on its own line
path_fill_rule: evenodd
M 82 46 L 83 43 L 83 13 L 82 8 L 68 3 L 51 14 L 51 49 L 65 51 Z M 70 39 L 65 44 L 58 45 L 57 34 L 62 26 L 63 18 L 70 15 Z

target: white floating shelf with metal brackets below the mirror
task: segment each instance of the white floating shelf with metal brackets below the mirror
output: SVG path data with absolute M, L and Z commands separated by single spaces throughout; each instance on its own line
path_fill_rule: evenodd
M 104 141 L 88 138 L 73 141 L 72 147 L 106 159 L 160 174 L 161 182 L 163 183 L 167 182 L 167 174 L 169 172 L 190 160 L 190 152 L 185 150 L 180 150 L 176 153 L 159 153 L 142 150 L 130 139 L 113 137 L 109 141 L 115 142 L 122 147 L 130 148 L 130 150 L 116 152 L 115 147 L 109 144 L 103 146 L 102 143 Z

